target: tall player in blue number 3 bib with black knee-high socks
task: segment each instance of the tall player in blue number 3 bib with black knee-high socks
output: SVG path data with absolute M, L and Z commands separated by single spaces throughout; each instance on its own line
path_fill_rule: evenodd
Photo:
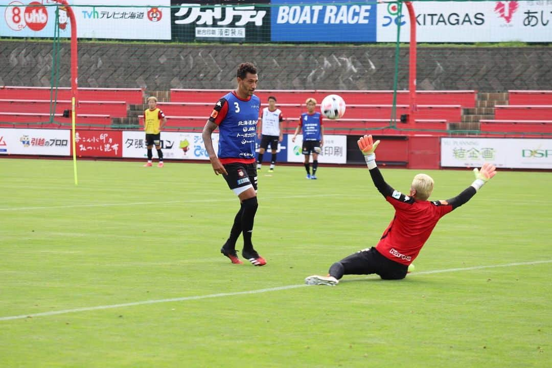
M 243 236 L 242 256 L 255 266 L 267 261 L 251 242 L 253 222 L 257 212 L 257 167 L 255 136 L 261 100 L 254 95 L 259 78 L 252 63 L 241 63 L 237 70 L 238 87 L 225 94 L 215 104 L 213 113 L 203 128 L 203 143 L 216 175 L 222 174 L 229 188 L 240 199 L 230 230 L 230 236 L 220 252 L 234 264 L 243 262 L 236 254 L 236 241 Z M 219 128 L 219 153 L 215 154 L 211 135 Z

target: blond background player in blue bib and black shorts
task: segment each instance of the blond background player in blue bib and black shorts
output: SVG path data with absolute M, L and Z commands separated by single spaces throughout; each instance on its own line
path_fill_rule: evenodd
M 302 153 L 305 155 L 305 169 L 307 170 L 307 179 L 316 179 L 316 170 L 318 169 L 318 155 L 324 145 L 324 127 L 322 126 L 322 114 L 316 112 L 316 100 L 307 98 L 307 112 L 302 113 L 299 118 L 299 125 L 295 129 L 295 134 L 291 142 L 295 142 L 295 137 L 299 134 L 299 129 L 303 131 Z M 310 154 L 312 152 L 312 175 L 310 174 Z

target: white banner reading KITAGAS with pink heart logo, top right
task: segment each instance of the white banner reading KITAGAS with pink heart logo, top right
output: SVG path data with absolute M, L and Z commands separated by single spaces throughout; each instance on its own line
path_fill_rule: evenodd
M 469 6 L 466 6 L 469 4 Z M 414 2 L 418 42 L 551 42 L 551 1 Z M 406 6 L 378 4 L 378 42 L 410 40 Z

